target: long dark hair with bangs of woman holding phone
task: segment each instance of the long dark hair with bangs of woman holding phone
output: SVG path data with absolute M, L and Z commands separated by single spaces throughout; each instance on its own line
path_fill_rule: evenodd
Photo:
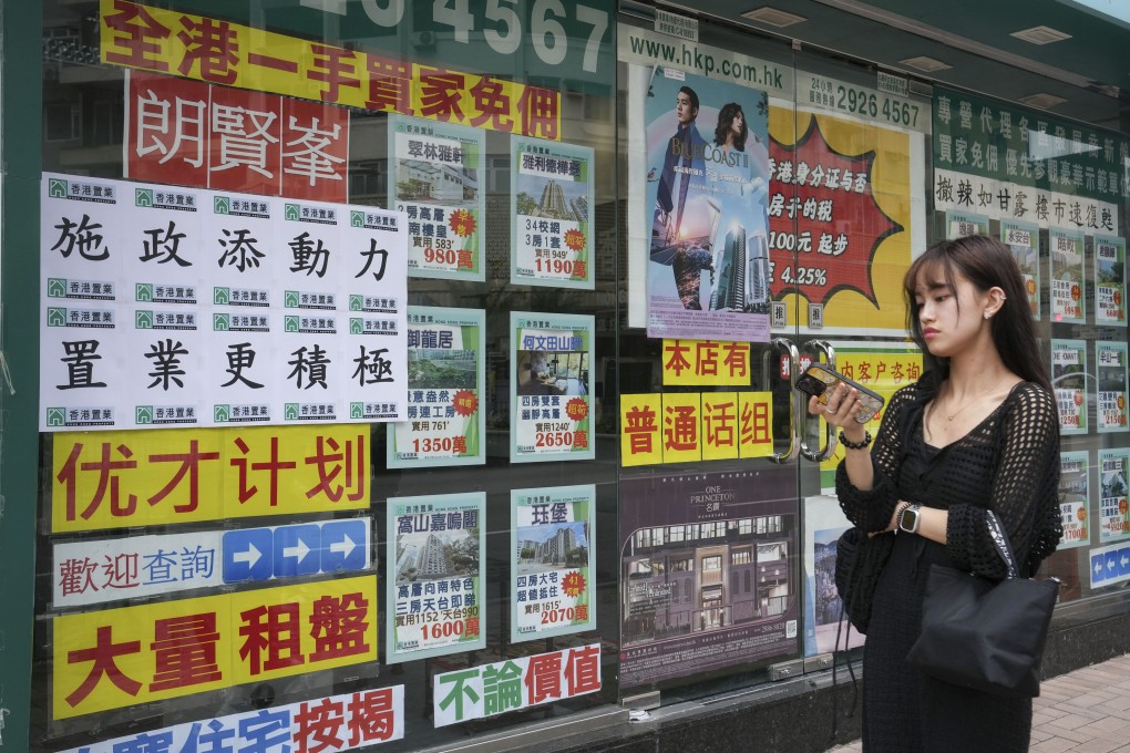
M 1040 351 L 1036 325 L 1028 308 L 1028 291 L 1020 268 L 1008 246 L 985 235 L 970 235 L 955 240 L 941 240 L 930 246 L 914 260 L 903 278 L 906 296 L 906 331 L 922 351 L 927 369 L 936 369 L 939 379 L 949 376 L 949 359 L 930 353 L 915 303 L 914 289 L 919 281 L 944 282 L 953 288 L 954 278 L 960 274 L 984 292 L 997 287 L 1005 291 L 1005 303 L 991 321 L 992 341 L 1001 360 L 1010 371 L 1027 382 L 1035 382 L 1052 392 L 1048 364 Z

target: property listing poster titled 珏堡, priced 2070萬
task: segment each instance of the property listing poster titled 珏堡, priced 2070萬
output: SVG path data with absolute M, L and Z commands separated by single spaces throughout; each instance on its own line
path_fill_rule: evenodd
M 510 639 L 592 630 L 596 608 L 597 487 L 510 492 Z

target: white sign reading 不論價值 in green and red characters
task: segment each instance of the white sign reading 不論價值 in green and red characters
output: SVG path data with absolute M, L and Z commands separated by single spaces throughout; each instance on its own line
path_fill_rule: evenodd
M 435 675 L 436 727 L 493 717 L 600 690 L 600 643 Z

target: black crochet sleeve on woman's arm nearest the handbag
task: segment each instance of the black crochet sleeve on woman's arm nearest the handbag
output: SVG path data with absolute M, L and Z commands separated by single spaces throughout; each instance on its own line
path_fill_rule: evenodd
M 1012 543 L 1022 575 L 1031 576 L 1055 550 L 1062 525 L 1059 511 L 1059 421 L 1054 399 L 1034 384 L 1017 391 L 1001 418 L 1000 443 L 989 507 Z M 954 567 L 999 579 L 1007 575 L 985 526 L 985 508 L 950 506 L 947 553 Z

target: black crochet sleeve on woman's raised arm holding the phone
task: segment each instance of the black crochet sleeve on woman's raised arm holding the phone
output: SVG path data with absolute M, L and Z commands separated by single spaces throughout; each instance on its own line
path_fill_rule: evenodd
M 836 467 L 836 497 L 840 498 L 840 507 L 847 519 L 863 531 L 885 529 L 895 513 L 895 505 L 898 504 L 895 480 L 898 478 L 898 464 L 903 457 L 902 426 L 915 394 L 913 385 L 903 387 L 890 399 L 883 413 L 879 436 L 875 438 L 875 445 L 871 447 L 875 482 L 869 491 L 857 489 L 852 484 L 844 461 Z

